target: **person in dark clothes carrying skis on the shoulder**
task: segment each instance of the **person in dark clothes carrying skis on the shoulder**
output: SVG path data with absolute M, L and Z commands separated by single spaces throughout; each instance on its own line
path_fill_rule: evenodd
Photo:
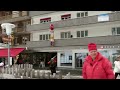
M 57 57 L 52 58 L 49 62 L 49 67 L 51 70 L 51 74 L 56 73 L 56 67 L 57 67 Z

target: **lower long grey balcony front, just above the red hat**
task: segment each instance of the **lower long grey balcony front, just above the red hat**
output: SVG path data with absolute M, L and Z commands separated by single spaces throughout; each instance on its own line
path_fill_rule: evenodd
M 120 44 L 120 36 L 101 36 L 101 37 L 86 37 L 72 39 L 56 39 L 55 47 L 75 47 L 86 46 L 91 41 L 99 45 L 115 45 Z M 26 47 L 29 48 L 50 48 L 50 41 L 27 41 Z

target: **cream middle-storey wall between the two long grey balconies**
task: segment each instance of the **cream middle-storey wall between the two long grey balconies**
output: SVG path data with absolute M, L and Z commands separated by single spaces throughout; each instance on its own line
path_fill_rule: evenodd
M 96 37 L 96 36 L 107 36 L 112 35 L 112 27 L 120 27 L 119 22 L 118 23 L 98 23 L 93 25 L 86 25 L 86 26 L 73 26 L 73 27 L 66 27 L 66 28 L 56 28 L 54 30 L 54 38 L 55 39 L 61 39 L 60 32 L 67 32 L 70 31 L 71 35 L 73 35 L 73 38 L 77 38 L 77 31 L 84 31 L 88 30 L 88 37 Z M 40 34 L 50 34 L 49 30 L 43 30 L 43 31 L 34 31 L 33 33 L 33 41 L 39 41 L 39 35 Z

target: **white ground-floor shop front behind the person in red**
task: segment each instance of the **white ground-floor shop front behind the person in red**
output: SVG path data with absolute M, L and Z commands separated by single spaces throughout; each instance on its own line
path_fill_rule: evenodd
M 117 55 L 120 55 L 120 49 L 98 49 L 98 51 L 108 58 L 114 67 L 114 61 Z M 57 67 L 64 68 L 82 68 L 85 61 L 85 57 L 88 55 L 87 49 L 71 50 L 71 51 L 59 51 L 58 65 Z

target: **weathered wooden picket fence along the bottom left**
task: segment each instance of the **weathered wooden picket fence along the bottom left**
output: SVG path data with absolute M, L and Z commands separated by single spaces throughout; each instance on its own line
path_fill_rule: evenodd
M 59 71 L 51 75 L 45 70 L 35 70 L 31 64 L 20 64 L 11 67 L 0 67 L 1 79 L 63 79 Z

